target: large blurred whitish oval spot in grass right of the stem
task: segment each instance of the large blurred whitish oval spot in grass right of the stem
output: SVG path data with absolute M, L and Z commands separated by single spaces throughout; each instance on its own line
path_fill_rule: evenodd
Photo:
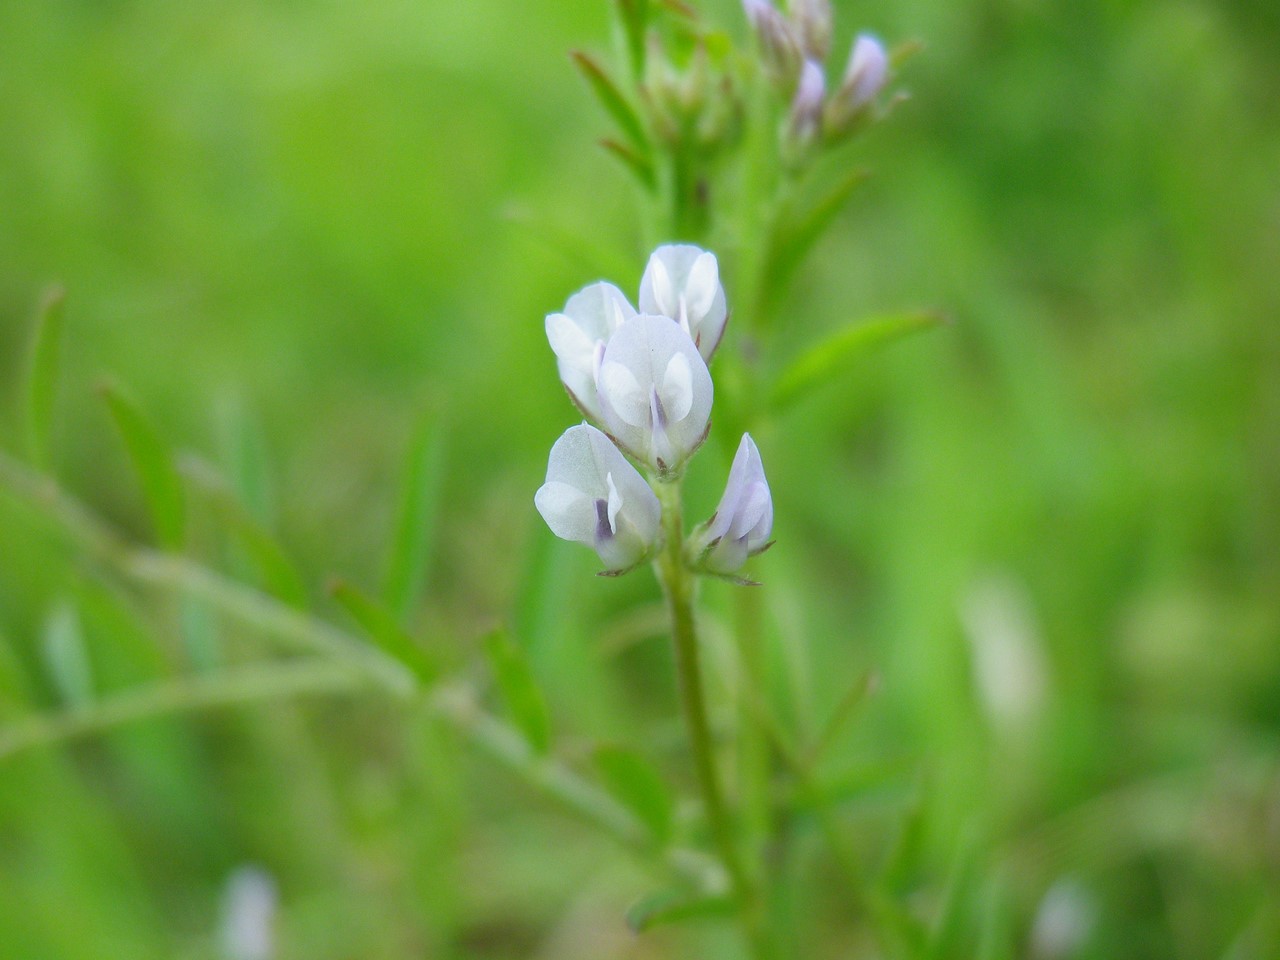
M 1002 732 L 1041 713 L 1048 666 L 1030 599 L 1004 576 L 979 580 L 960 604 L 973 654 L 974 682 L 987 717 Z

